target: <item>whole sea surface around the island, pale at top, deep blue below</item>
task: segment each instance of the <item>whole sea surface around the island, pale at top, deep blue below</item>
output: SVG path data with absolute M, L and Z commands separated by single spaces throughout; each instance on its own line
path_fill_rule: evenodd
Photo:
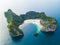
M 0 3 L 0 45 L 60 45 L 60 1 L 34 1 L 35 0 L 23 0 L 21 2 L 17 0 L 3 0 L 2 3 Z M 28 11 L 44 11 L 47 16 L 55 17 L 58 24 L 57 29 L 54 33 L 39 32 L 38 36 L 34 36 L 34 33 L 38 30 L 38 28 L 36 24 L 29 23 L 22 29 L 24 37 L 14 40 L 9 35 L 7 28 L 8 23 L 4 16 L 4 12 L 9 8 L 16 14 L 23 14 Z

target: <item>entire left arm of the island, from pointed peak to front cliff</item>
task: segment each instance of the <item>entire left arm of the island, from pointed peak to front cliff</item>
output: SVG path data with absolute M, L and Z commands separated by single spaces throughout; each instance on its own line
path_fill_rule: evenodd
M 19 25 L 22 23 L 22 19 L 15 13 L 13 13 L 10 9 L 7 12 L 5 12 L 5 17 L 7 18 L 7 27 L 9 29 L 11 36 L 23 36 L 23 31 L 18 28 Z

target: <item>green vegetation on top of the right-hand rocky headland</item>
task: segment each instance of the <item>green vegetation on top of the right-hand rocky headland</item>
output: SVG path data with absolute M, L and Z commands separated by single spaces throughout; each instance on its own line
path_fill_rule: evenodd
M 51 26 L 52 23 L 55 21 L 53 17 L 46 16 L 44 12 L 41 12 L 40 14 L 38 14 L 37 18 L 42 19 L 44 22 L 47 22 L 43 25 L 45 28 Z

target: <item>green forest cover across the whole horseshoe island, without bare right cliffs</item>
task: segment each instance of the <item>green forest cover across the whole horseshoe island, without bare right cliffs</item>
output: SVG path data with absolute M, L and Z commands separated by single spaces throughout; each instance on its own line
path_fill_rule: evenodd
M 14 34 L 16 33 L 17 35 L 18 34 L 23 35 L 23 31 L 21 29 L 19 29 L 18 27 L 19 27 L 19 25 L 21 25 L 24 22 L 24 20 L 41 19 L 42 20 L 41 24 L 44 22 L 43 26 L 45 28 L 51 27 L 51 25 L 55 21 L 55 19 L 53 17 L 46 16 L 46 14 L 44 12 L 39 13 L 39 12 L 29 11 L 26 14 L 21 14 L 20 16 L 18 16 L 11 9 L 9 9 L 7 12 L 5 12 L 5 17 L 7 18 L 8 28 L 10 30 L 9 32 L 11 32 L 11 34 L 13 34 L 13 32 L 14 32 Z M 46 22 L 49 22 L 49 23 L 46 24 Z M 56 23 L 56 21 L 54 23 Z M 13 27 L 14 29 L 11 29 L 11 27 Z M 19 33 L 17 33 L 17 32 L 19 32 Z

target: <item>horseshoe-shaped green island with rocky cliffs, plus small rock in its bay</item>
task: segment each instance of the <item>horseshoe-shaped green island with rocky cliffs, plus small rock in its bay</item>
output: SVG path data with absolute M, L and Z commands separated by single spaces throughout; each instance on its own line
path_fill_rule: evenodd
M 23 36 L 23 30 L 19 28 L 20 25 L 24 23 L 25 20 L 40 20 L 38 23 L 42 32 L 54 32 L 57 28 L 57 21 L 54 17 L 47 16 L 44 12 L 35 12 L 29 11 L 26 14 L 16 15 L 11 9 L 8 9 L 7 12 L 4 13 L 8 22 L 8 29 L 10 35 L 12 37 Z M 35 21 L 37 22 L 37 21 Z M 35 36 L 38 35 L 38 32 L 34 33 Z

